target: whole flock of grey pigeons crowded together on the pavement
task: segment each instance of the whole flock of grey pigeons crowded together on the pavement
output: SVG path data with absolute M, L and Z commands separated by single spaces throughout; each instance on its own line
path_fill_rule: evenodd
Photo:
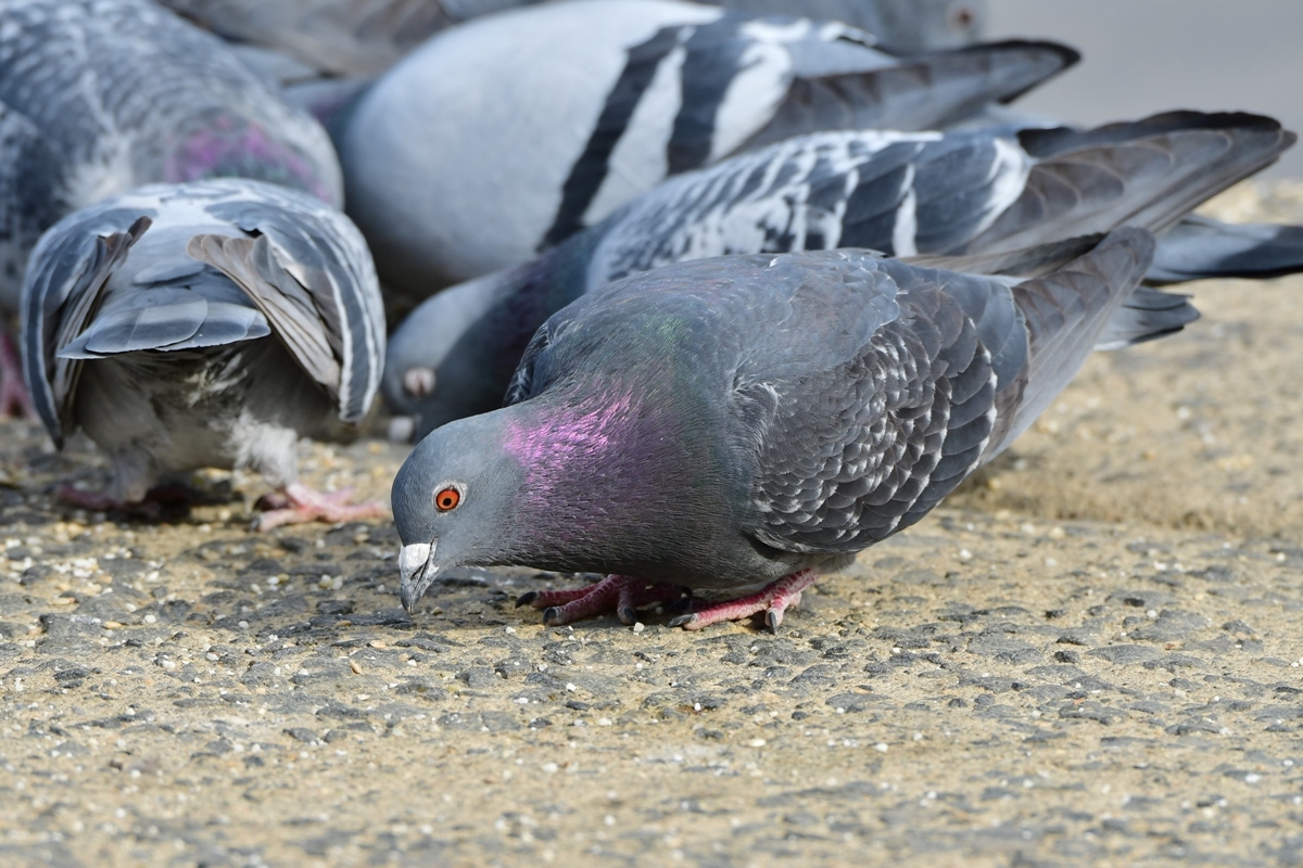
M 605 578 L 562 625 L 783 613 L 1006 449 L 1161 289 L 1303 271 L 1192 213 L 1295 137 L 1075 129 L 977 0 L 0 0 L 0 413 L 94 510 L 258 471 L 257 530 L 383 401 L 412 612 L 450 567 Z M 696 590 L 722 591 L 709 599 Z M 731 595 L 731 596 L 728 596 Z

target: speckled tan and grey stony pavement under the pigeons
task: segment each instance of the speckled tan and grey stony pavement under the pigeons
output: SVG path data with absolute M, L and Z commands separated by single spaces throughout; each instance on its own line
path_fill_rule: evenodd
M 777 636 L 543 629 L 533 570 L 408 619 L 384 522 L 70 511 L 102 458 L 4 423 L 0 864 L 1303 864 L 1303 278 L 1191 289 Z

